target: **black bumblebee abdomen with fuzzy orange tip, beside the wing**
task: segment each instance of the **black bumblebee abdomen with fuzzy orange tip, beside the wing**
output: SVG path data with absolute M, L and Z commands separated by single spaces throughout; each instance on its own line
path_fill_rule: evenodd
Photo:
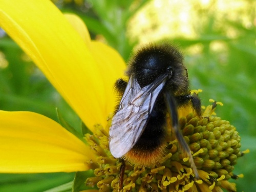
M 163 98 L 158 99 L 141 137 L 124 159 L 132 164 L 154 167 L 161 163 L 166 142 L 166 112 Z

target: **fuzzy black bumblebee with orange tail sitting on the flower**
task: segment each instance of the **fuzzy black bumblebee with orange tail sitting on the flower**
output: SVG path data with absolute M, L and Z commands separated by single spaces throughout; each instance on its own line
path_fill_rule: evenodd
M 189 157 L 196 178 L 198 171 L 190 148 L 179 129 L 177 109 L 190 104 L 201 117 L 201 101 L 191 94 L 183 56 L 169 44 L 147 45 L 130 59 L 129 80 L 118 79 L 121 96 L 110 127 L 110 152 L 122 162 L 154 167 L 166 150 L 167 115 L 173 132 Z M 124 172 L 123 166 L 121 167 Z

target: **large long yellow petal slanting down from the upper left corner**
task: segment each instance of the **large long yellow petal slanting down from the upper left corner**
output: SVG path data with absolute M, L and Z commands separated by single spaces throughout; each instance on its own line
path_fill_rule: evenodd
M 105 82 L 98 62 L 50 1 L 1 0 L 0 25 L 92 131 L 95 123 L 106 124 L 105 114 L 113 106 L 105 107 L 109 96 L 104 95 L 107 92 L 103 91 Z M 110 59 L 111 65 L 118 68 L 116 58 Z

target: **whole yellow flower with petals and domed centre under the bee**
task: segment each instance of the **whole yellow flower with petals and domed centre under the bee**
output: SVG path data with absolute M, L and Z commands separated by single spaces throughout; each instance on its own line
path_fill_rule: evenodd
M 148 167 L 122 163 L 109 152 L 108 130 L 114 111 L 113 84 L 125 64 L 108 46 L 90 39 L 75 15 L 63 15 L 50 1 L 0 1 L 0 25 L 33 59 L 56 90 L 93 132 L 78 139 L 57 122 L 32 112 L 0 111 L 0 173 L 77 172 L 94 169 L 87 185 L 103 191 L 236 191 L 233 165 L 243 153 L 240 136 L 228 121 L 215 117 L 217 102 L 199 119 L 179 110 L 180 126 L 200 179 L 167 127 L 166 154 Z M 220 104 L 220 103 L 219 103 Z M 170 124 L 170 123 L 169 123 Z

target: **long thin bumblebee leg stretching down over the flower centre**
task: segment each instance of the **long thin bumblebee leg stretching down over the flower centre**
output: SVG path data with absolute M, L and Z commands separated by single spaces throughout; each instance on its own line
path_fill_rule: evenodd
M 193 169 L 193 172 L 195 174 L 195 177 L 199 179 L 199 174 L 198 170 L 196 167 L 196 164 L 194 162 L 193 156 L 191 155 L 190 148 L 188 144 L 186 143 L 180 129 L 179 129 L 179 121 L 178 121 L 178 112 L 177 112 L 177 103 L 175 98 L 170 94 L 170 93 L 165 93 L 164 94 L 165 101 L 167 104 L 167 109 L 169 114 L 172 117 L 172 122 L 173 122 L 173 130 L 176 136 L 176 139 L 178 140 L 180 146 L 182 147 L 183 151 L 188 155 L 189 158 L 189 163 L 191 168 Z

